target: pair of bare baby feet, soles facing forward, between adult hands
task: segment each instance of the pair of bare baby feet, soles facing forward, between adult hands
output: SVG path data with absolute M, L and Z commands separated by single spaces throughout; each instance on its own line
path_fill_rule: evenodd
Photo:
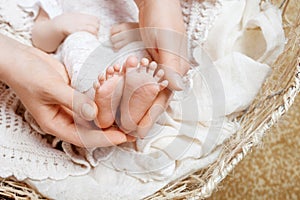
M 100 75 L 94 84 L 95 102 L 99 108 L 96 124 L 111 126 L 119 107 L 117 125 L 126 133 L 136 131 L 137 124 L 158 93 L 168 85 L 166 80 L 162 81 L 163 70 L 154 73 L 156 68 L 155 62 L 149 63 L 144 58 L 138 63 L 136 57 L 130 56 L 122 70 L 115 65 L 106 70 L 106 75 Z

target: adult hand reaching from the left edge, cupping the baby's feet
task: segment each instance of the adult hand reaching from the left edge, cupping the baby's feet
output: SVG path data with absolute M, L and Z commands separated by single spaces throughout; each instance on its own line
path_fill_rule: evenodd
M 127 136 L 118 129 L 102 131 L 76 126 L 65 108 L 93 120 L 97 107 L 91 99 L 68 86 L 61 63 L 2 35 L 0 44 L 0 80 L 16 92 L 44 132 L 82 147 L 104 147 L 127 141 Z

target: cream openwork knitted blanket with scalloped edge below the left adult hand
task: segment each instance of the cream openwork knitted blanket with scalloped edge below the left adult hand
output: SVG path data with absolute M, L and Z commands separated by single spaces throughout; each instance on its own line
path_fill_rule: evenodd
M 52 148 L 23 116 L 16 114 L 23 110 L 20 105 L 16 94 L 0 83 L 1 177 L 64 179 L 89 172 L 89 165 L 75 164 L 64 152 Z

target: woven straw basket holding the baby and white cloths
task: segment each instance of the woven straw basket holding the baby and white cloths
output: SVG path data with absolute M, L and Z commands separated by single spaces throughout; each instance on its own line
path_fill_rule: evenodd
M 203 199 L 247 155 L 290 108 L 300 91 L 300 5 L 299 0 L 272 0 L 282 10 L 287 37 L 285 51 L 272 66 L 251 106 L 238 118 L 241 129 L 224 143 L 219 159 L 208 168 L 170 183 L 147 199 Z M 298 2 L 298 4 L 297 4 Z M 0 178 L 2 199 L 46 199 L 34 189 L 14 179 Z

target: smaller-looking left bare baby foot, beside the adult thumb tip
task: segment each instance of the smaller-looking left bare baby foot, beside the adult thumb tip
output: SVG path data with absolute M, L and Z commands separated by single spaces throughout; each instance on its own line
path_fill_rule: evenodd
M 114 123 L 123 87 L 124 77 L 119 65 L 109 67 L 106 75 L 99 76 L 94 83 L 95 103 L 98 107 L 95 123 L 100 128 L 108 128 Z

